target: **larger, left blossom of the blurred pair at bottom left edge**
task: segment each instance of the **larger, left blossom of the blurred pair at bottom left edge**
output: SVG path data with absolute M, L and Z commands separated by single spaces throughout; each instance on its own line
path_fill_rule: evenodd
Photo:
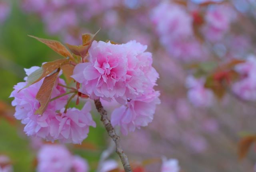
M 73 157 L 63 145 L 44 145 L 37 160 L 38 172 L 70 172 Z

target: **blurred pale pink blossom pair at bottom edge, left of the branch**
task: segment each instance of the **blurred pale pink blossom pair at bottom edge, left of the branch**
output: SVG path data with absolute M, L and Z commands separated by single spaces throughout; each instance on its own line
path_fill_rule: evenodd
M 88 172 L 85 159 L 72 155 L 63 145 L 43 145 L 37 156 L 38 172 Z

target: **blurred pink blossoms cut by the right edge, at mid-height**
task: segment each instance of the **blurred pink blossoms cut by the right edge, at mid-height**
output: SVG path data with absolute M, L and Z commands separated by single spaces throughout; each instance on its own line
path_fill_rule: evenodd
M 235 66 L 236 72 L 241 75 L 241 79 L 232 85 L 235 94 L 244 100 L 256 100 L 256 57 L 250 55 L 245 63 Z

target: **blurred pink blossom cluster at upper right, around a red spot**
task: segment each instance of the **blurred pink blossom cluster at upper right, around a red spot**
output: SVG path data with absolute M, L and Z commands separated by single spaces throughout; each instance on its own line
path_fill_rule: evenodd
M 220 41 L 234 20 L 234 11 L 225 5 L 210 6 L 203 16 L 198 9 L 169 1 L 158 4 L 151 12 L 160 43 L 172 57 L 185 62 L 207 59 L 202 38 L 196 32 L 202 32 L 205 41 Z

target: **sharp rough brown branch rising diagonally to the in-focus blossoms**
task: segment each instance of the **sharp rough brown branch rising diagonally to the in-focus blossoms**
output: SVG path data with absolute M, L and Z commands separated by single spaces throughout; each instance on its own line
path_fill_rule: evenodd
M 101 115 L 100 120 L 104 124 L 104 126 L 105 126 L 105 128 L 106 128 L 106 130 L 108 132 L 108 135 L 113 139 L 113 141 L 116 144 L 116 153 L 118 154 L 118 156 L 120 157 L 120 159 L 122 161 L 122 164 L 124 166 L 124 171 L 125 172 L 132 172 L 132 168 L 131 168 L 131 166 L 129 164 L 128 157 L 126 156 L 126 154 L 124 154 L 124 151 L 123 151 L 123 149 L 121 147 L 120 137 L 116 134 L 116 131 L 115 131 L 114 127 L 110 123 L 110 121 L 108 119 L 107 112 L 103 108 L 103 106 L 102 106 L 102 104 L 100 102 L 100 99 L 94 100 L 94 103 L 95 103 L 96 109 L 98 110 L 98 112 Z

